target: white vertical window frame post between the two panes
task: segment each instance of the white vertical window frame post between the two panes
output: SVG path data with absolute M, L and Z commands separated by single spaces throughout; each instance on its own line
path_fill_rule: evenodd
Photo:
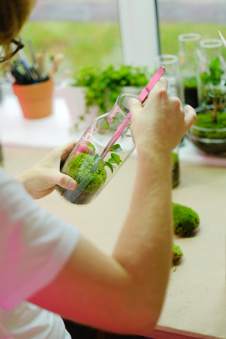
M 160 54 L 155 0 L 117 0 L 123 63 L 155 69 Z

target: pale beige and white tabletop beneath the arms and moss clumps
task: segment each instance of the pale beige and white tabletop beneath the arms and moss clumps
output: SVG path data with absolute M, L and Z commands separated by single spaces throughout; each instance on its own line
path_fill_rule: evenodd
M 64 100 L 55 98 L 54 107 L 52 116 L 28 121 L 16 98 L 4 99 L 0 139 L 8 173 L 25 170 L 49 148 L 74 139 Z M 206 156 L 188 141 L 180 148 L 179 159 L 180 184 L 172 190 L 173 201 L 193 208 L 200 216 L 200 226 L 193 237 L 174 236 L 184 256 L 176 271 L 171 271 L 162 314 L 147 337 L 226 339 L 226 159 Z M 129 207 L 135 173 L 136 153 L 90 205 L 71 206 L 56 192 L 37 203 L 77 225 L 103 251 L 111 253 Z M 117 211 L 110 218 L 109 206 Z

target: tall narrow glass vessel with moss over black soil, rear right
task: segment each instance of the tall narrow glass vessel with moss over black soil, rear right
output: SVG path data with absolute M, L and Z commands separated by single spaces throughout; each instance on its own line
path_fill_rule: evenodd
M 184 104 L 198 107 L 197 71 L 200 60 L 198 33 L 185 33 L 178 36 L 180 81 L 183 89 Z

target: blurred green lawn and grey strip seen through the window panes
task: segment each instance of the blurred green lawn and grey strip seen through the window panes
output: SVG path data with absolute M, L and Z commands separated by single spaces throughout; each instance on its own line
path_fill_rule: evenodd
M 220 30 L 226 36 L 225 0 L 155 2 L 161 54 L 177 55 L 182 33 L 219 39 Z M 86 65 L 123 62 L 117 0 L 38 0 L 21 37 L 32 40 L 36 53 L 44 50 L 47 62 L 64 54 L 58 80 Z

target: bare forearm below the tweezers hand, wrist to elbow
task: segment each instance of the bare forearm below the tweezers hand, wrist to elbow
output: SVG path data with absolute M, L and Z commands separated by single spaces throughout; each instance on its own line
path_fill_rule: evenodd
M 138 157 L 131 206 L 114 256 L 158 316 L 172 260 L 171 157 L 153 156 L 149 165 L 145 160 Z

